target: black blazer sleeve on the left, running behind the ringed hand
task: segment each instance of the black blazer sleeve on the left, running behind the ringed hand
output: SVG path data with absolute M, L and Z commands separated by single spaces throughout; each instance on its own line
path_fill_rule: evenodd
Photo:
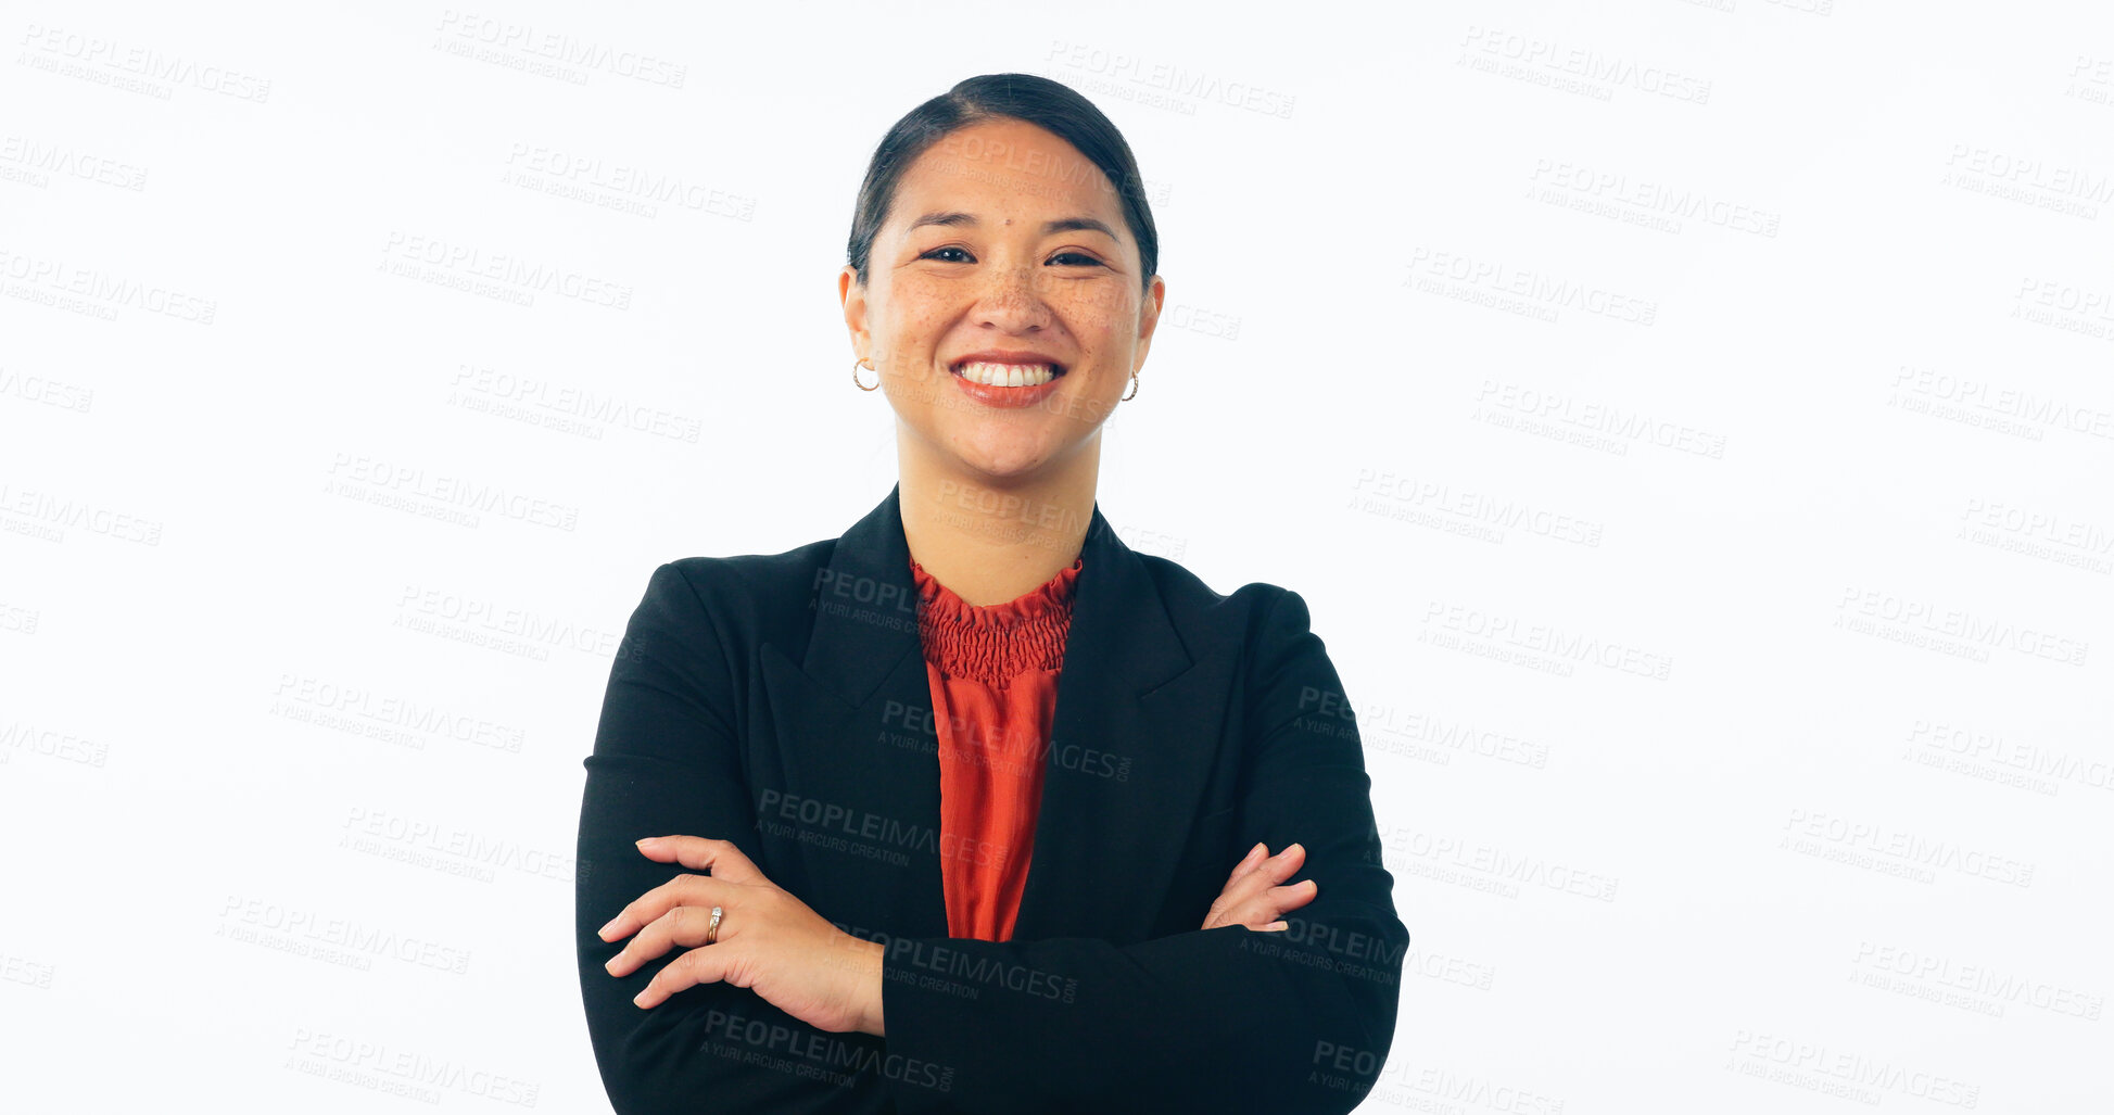
M 683 874 L 676 863 L 638 855 L 638 838 L 734 840 L 763 863 L 740 736 L 729 721 L 731 690 L 727 650 L 708 609 L 681 569 L 662 565 L 609 671 L 579 810 L 579 990 L 602 1087 L 619 1115 L 871 1109 L 873 1079 L 852 1087 L 846 1077 L 877 1062 L 882 1039 L 822 1032 L 725 982 L 636 1007 L 632 997 L 681 948 L 622 980 L 602 969 L 624 942 L 602 942 L 596 931 L 638 895 Z

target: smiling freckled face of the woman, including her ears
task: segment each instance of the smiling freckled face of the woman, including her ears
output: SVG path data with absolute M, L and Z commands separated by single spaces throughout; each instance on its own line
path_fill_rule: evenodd
M 1139 271 L 1108 176 L 1055 133 L 1002 118 L 941 138 L 903 171 L 867 284 L 846 267 L 837 290 L 905 434 L 996 480 L 1070 457 L 1114 410 L 1165 300 Z

